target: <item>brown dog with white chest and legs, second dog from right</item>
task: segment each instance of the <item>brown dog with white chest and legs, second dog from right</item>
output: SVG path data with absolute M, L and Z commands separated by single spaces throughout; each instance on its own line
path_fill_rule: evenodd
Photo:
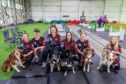
M 90 71 L 90 65 L 92 64 L 91 58 L 94 56 L 94 50 L 92 48 L 86 48 L 83 50 L 83 71 Z

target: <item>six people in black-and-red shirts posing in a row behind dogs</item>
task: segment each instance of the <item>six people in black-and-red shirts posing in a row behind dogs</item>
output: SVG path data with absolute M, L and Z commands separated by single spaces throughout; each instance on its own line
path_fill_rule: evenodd
M 34 38 L 32 40 L 29 39 L 28 33 L 23 33 L 21 46 L 25 57 L 25 64 L 31 64 L 34 55 L 37 55 L 39 58 L 38 64 L 42 65 L 43 68 L 46 67 L 47 58 L 51 58 L 52 51 L 54 49 L 61 52 L 61 59 L 68 58 L 65 54 L 67 52 L 77 54 L 78 58 L 76 58 L 76 60 L 79 65 L 82 66 L 82 51 L 86 48 L 90 48 L 89 41 L 87 40 L 85 33 L 81 33 L 80 38 L 77 41 L 73 40 L 71 32 L 67 32 L 65 39 L 62 39 L 58 34 L 56 26 L 52 26 L 50 28 L 50 34 L 47 35 L 46 38 L 40 35 L 40 30 L 38 28 L 34 29 Z M 119 63 L 118 61 L 119 54 L 121 53 L 121 47 L 116 37 L 112 37 L 110 39 L 106 49 L 118 52 L 118 59 L 114 63 Z

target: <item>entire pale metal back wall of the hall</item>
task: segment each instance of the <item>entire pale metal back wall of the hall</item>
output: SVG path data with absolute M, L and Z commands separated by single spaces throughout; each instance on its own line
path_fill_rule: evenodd
M 84 11 L 87 20 L 107 15 L 109 21 L 126 21 L 125 3 L 126 0 L 32 0 L 32 17 L 51 20 L 69 15 L 68 19 L 79 19 Z

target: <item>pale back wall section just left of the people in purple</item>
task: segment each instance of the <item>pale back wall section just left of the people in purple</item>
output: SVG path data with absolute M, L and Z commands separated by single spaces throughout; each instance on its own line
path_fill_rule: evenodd
M 79 15 L 82 15 L 82 11 L 87 20 L 97 20 L 100 16 L 103 16 L 104 2 L 103 0 L 98 1 L 81 1 Z

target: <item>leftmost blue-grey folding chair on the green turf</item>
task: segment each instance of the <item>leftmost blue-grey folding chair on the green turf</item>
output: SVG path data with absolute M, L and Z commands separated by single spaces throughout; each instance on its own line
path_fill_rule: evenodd
M 6 45 L 9 43 L 15 43 L 15 39 L 13 37 L 9 36 L 9 31 L 8 30 L 3 30 L 3 36 L 4 36 L 4 42 L 6 43 Z M 5 47 L 6 47 L 5 45 Z

